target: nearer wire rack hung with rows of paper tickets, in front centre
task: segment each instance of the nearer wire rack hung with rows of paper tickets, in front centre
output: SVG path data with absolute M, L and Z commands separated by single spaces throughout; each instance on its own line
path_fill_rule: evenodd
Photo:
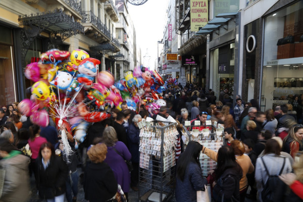
M 145 125 L 146 124 L 146 125 Z M 174 198 L 176 123 L 145 122 L 140 129 L 139 201 L 170 201 Z

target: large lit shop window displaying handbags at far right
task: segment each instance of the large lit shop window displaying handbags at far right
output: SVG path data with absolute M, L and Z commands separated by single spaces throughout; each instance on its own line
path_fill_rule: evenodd
M 302 1 L 265 18 L 261 110 L 293 103 L 295 96 L 298 96 L 298 105 L 302 106 L 302 19 Z M 301 119 L 302 112 L 297 114 L 297 119 Z

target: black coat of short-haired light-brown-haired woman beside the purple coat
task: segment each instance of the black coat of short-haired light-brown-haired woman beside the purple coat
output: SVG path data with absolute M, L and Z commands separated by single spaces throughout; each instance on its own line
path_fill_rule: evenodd
M 84 172 L 83 188 L 86 200 L 104 202 L 116 194 L 118 183 L 114 172 L 107 163 L 89 162 Z

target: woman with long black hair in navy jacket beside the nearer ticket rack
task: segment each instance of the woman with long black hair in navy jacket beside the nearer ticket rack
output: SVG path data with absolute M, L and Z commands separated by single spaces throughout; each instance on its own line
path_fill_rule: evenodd
M 199 163 L 202 148 L 203 146 L 199 142 L 190 141 L 178 159 L 176 174 L 177 201 L 196 201 L 196 191 L 203 190 L 207 184 Z

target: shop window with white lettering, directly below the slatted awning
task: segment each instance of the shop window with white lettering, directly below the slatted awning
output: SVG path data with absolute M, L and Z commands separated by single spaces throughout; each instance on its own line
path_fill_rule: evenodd
M 227 88 L 230 98 L 233 98 L 235 43 L 215 49 L 212 56 L 213 90 L 219 96 L 219 93 Z

